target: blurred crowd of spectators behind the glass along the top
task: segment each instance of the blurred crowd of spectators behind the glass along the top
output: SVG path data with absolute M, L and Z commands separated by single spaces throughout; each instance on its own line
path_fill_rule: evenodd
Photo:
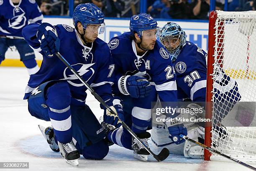
M 37 0 L 44 15 L 69 15 L 69 0 Z M 228 11 L 255 10 L 255 0 L 228 0 Z M 130 18 L 140 10 L 140 0 L 74 0 L 74 8 L 81 3 L 94 3 L 106 17 Z M 224 10 L 225 0 L 216 0 L 215 10 Z M 210 0 L 147 0 L 147 13 L 154 18 L 209 18 Z

